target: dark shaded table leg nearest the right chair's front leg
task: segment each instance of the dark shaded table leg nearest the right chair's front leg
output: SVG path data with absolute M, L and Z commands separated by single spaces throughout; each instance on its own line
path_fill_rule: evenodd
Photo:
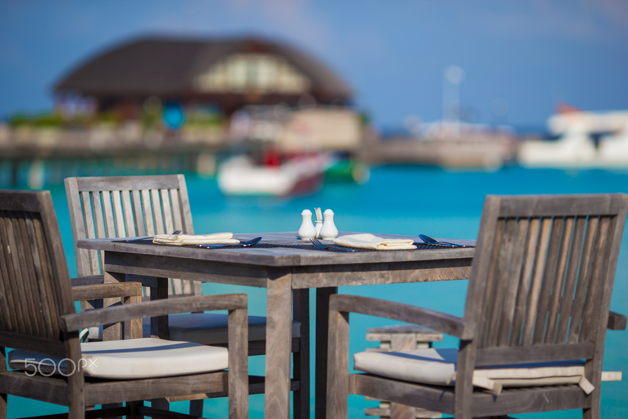
M 325 419 L 327 407 L 327 333 L 329 323 L 329 297 L 338 293 L 337 286 L 316 290 L 316 373 L 314 418 Z

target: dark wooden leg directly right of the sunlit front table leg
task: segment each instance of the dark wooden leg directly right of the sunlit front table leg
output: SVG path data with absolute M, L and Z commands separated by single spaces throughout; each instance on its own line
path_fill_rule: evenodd
M 299 389 L 292 394 L 293 418 L 310 419 L 310 289 L 292 291 L 294 320 L 301 323 L 299 352 L 293 357 L 293 376 Z

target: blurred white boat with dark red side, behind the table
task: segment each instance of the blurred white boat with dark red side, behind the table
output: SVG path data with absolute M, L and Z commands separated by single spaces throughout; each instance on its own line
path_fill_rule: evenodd
M 257 166 L 245 155 L 219 167 L 218 187 L 225 195 L 301 195 L 316 192 L 334 158 L 329 153 L 301 155 L 279 166 Z

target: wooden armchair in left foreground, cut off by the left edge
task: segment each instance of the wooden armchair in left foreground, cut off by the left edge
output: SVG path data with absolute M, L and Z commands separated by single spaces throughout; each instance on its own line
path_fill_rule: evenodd
M 75 312 L 75 300 L 115 297 L 124 303 Z M 50 192 L 0 191 L 0 418 L 6 419 L 7 395 L 67 405 L 71 419 L 85 418 L 85 406 L 124 401 L 124 407 L 87 416 L 183 418 L 187 415 L 149 408 L 141 400 L 225 392 L 230 418 L 247 418 L 247 296 L 140 300 L 136 282 L 72 288 Z M 229 310 L 228 350 L 141 339 L 139 319 L 199 310 Z M 118 322 L 127 339 L 80 343 L 78 330 Z M 11 366 L 26 371 L 7 370 L 5 347 L 15 349 L 9 352 Z M 145 351 L 165 358 L 151 361 L 155 358 Z M 195 362 L 187 362 L 190 356 Z M 40 373 L 31 372 L 32 362 L 27 366 L 33 358 L 41 361 Z M 95 367 L 88 359 L 97 362 Z M 122 361 L 133 367 L 118 365 Z M 224 370 L 227 362 L 229 371 Z M 63 374 L 53 374 L 57 366 Z

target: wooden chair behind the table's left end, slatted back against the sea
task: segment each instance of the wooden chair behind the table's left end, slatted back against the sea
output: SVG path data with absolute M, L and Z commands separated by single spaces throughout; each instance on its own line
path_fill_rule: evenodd
M 183 234 L 194 234 L 183 175 L 72 177 L 65 179 L 65 192 L 70 210 L 78 274 L 78 278 L 72 278 L 72 285 L 99 284 L 104 281 L 102 275 L 104 254 L 101 251 L 77 248 L 78 239 L 154 236 L 176 230 L 181 230 Z M 143 278 L 126 275 L 127 281 L 143 281 Z M 201 283 L 198 281 L 172 278 L 167 281 L 170 298 L 202 295 Z M 144 287 L 144 298 L 149 296 L 153 299 L 158 298 L 157 290 L 158 288 Z M 300 298 L 300 295 L 296 295 L 296 298 Z M 300 300 L 301 305 L 308 304 L 306 298 Z M 102 300 L 81 303 L 82 311 L 94 307 L 102 307 Z M 226 314 L 188 313 L 171 316 L 167 324 L 163 324 L 165 320 L 160 318 L 161 324 L 158 327 L 153 325 L 153 330 L 149 329 L 149 323 L 145 321 L 144 336 L 156 337 L 160 330 L 160 337 L 169 336 L 170 339 L 227 346 Z M 266 318 L 249 316 L 248 324 L 249 355 L 263 355 L 266 346 Z M 100 330 L 102 334 L 102 327 Z M 163 330 L 167 330 L 166 334 Z M 305 338 L 301 339 L 300 322 L 293 322 L 292 336 L 292 351 L 299 354 L 295 356 L 305 354 L 309 349 L 309 343 L 306 334 L 303 334 Z M 89 337 L 98 338 L 98 329 L 90 330 Z M 106 336 L 106 339 L 112 338 Z M 306 376 L 300 372 L 301 369 L 298 362 L 295 362 L 297 371 L 295 378 Z M 295 411 L 300 411 L 303 417 L 309 417 L 309 380 L 301 381 L 303 383 L 300 383 L 300 389 L 295 391 L 294 395 L 295 401 L 300 400 Z M 192 400 L 190 414 L 200 416 L 202 405 L 202 400 Z

